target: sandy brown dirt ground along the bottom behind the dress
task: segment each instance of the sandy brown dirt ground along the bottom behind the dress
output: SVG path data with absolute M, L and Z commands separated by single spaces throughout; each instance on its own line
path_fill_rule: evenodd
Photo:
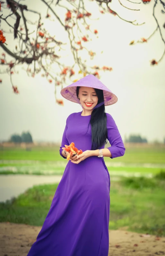
M 0 223 L 0 256 L 27 256 L 40 229 L 26 224 Z M 165 255 L 165 237 L 143 235 L 110 230 L 109 256 Z

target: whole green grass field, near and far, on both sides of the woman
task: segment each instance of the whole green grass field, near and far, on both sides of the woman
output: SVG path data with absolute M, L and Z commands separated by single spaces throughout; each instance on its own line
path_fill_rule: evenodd
M 111 179 L 109 229 L 165 235 L 165 147 L 126 148 L 123 157 L 104 160 L 110 177 L 120 177 Z M 62 175 L 66 164 L 59 147 L 0 150 L 0 174 Z M 42 226 L 57 186 L 35 186 L 0 203 L 0 221 Z

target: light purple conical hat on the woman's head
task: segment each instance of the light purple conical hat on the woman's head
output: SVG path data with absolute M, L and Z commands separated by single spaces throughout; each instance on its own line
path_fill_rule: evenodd
M 80 80 L 76 81 L 71 85 L 68 85 L 67 87 L 64 87 L 60 93 L 65 99 L 80 104 L 80 101 L 76 95 L 77 86 L 91 87 L 91 88 L 103 90 L 104 102 L 97 105 L 97 107 L 103 104 L 105 106 L 108 106 L 117 102 L 117 96 L 113 94 L 109 90 L 109 88 L 107 88 L 98 78 L 96 78 L 94 75 L 91 75 L 91 74 L 81 78 Z

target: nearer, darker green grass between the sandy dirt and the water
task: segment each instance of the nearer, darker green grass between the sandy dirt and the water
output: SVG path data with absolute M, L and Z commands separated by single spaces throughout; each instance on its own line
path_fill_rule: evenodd
M 58 184 L 34 186 L 0 203 L 0 222 L 42 226 Z M 165 235 L 165 179 L 122 178 L 111 182 L 109 229 Z

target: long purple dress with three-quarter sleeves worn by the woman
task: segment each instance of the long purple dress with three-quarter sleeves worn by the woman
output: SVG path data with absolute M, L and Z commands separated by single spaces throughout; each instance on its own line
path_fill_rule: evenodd
M 59 150 L 63 158 L 62 147 L 71 142 L 82 151 L 91 149 L 91 115 L 81 113 L 67 117 Z M 110 158 L 123 156 L 126 149 L 117 125 L 106 115 Z M 108 256 L 109 192 L 110 176 L 103 157 L 91 156 L 79 164 L 69 160 L 28 256 Z

